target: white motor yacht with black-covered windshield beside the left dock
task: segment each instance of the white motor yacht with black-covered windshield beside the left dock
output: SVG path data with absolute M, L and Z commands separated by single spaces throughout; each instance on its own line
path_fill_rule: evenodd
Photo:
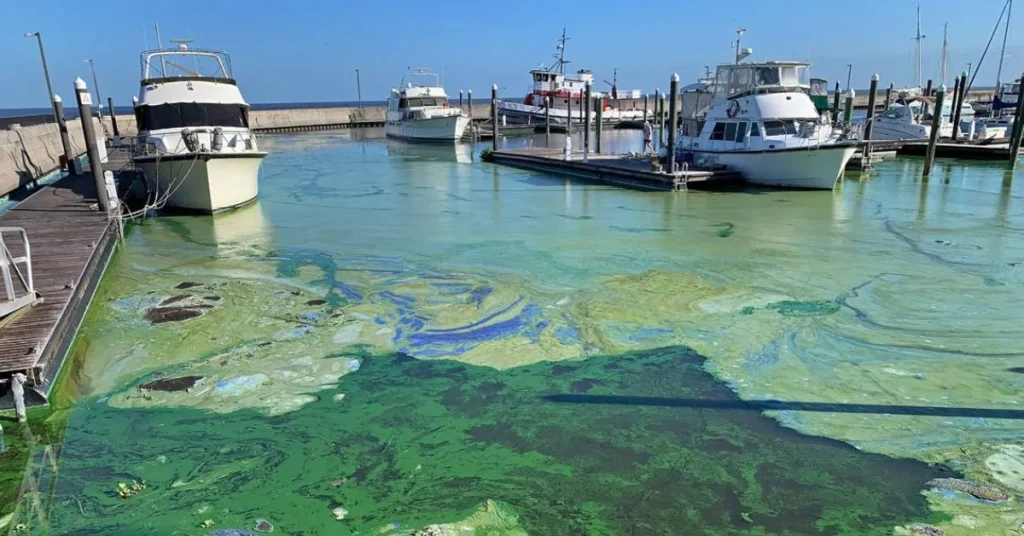
M 157 208 L 213 213 L 255 201 L 259 151 L 249 129 L 249 105 L 217 50 L 147 50 L 135 118 L 139 143 L 133 161 Z

